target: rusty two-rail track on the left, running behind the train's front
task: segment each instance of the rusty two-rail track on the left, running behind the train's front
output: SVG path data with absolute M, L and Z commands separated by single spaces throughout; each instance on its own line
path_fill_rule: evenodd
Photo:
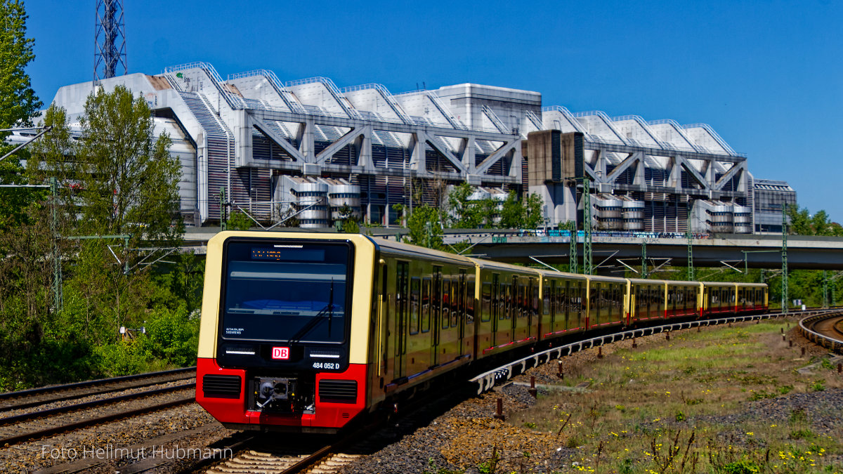
M 168 384 L 169 386 L 117 396 L 99 397 L 103 394 L 100 392 L 99 395 L 94 396 L 94 400 L 60 404 L 42 410 L 24 412 L 18 410 L 19 413 L 0 417 L 0 446 L 40 439 L 194 401 L 195 382 L 179 384 L 174 380 L 169 380 L 158 382 L 157 385 Z M 137 388 L 137 386 L 131 388 Z M 105 393 L 111 394 L 116 390 L 120 389 L 109 389 Z M 29 402 L 25 405 L 28 408 L 34 406 Z

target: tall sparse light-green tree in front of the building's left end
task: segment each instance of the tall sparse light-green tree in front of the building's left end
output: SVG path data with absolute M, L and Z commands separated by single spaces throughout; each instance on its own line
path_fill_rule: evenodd
M 88 96 L 82 139 L 72 178 L 82 191 L 82 229 L 92 234 L 132 234 L 137 242 L 180 237 L 180 164 L 170 139 L 153 139 L 146 100 L 118 85 Z

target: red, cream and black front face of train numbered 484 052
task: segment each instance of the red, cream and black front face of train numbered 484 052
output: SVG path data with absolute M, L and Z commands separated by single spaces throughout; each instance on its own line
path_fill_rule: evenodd
M 361 235 L 213 237 L 196 401 L 227 428 L 346 425 L 366 405 L 373 258 Z

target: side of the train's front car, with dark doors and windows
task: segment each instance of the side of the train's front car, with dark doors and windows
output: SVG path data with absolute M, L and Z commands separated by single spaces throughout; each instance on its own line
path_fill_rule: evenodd
M 382 371 L 375 366 L 373 405 L 469 363 L 475 344 L 474 265 L 443 252 L 376 241 L 384 322 L 375 325 L 383 340 L 375 360 L 384 364 Z

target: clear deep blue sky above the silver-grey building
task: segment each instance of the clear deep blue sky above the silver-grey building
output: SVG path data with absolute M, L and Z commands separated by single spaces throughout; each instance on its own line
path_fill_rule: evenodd
M 94 0 L 26 2 L 48 104 L 94 67 Z M 705 122 L 843 221 L 843 2 L 218 2 L 126 0 L 130 73 L 211 62 L 394 93 L 529 89 L 544 105 Z

